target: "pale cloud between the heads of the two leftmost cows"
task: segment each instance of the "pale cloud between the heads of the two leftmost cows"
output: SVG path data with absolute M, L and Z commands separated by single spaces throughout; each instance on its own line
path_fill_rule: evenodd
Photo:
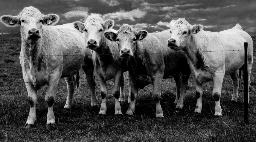
M 64 13 L 63 16 L 68 20 L 74 18 L 86 18 L 88 16 L 89 10 L 89 7 L 76 7 L 73 8 L 71 11 Z

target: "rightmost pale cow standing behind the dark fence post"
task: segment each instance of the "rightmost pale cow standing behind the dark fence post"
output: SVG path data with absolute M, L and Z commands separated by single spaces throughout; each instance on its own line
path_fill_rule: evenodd
M 240 83 L 239 70 L 244 63 L 244 42 L 248 42 L 248 92 L 252 69 L 253 42 L 249 34 L 237 24 L 234 28 L 219 33 L 203 31 L 202 25 L 191 26 L 185 19 L 170 22 L 168 46 L 183 52 L 188 59 L 196 88 L 196 113 L 202 111 L 202 84 L 213 81 L 212 95 L 215 100 L 215 116 L 222 116 L 220 94 L 224 75 L 233 82 L 231 102 L 237 102 Z M 238 51 L 240 50 L 240 51 Z M 248 102 L 249 103 L 249 93 Z

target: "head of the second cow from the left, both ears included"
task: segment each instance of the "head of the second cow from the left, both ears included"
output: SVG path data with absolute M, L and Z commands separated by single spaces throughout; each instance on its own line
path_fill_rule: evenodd
M 85 23 L 75 22 L 74 25 L 78 30 L 83 29 L 82 31 L 85 33 L 87 39 L 86 47 L 96 50 L 103 43 L 104 31 L 112 28 L 114 21 L 109 19 L 103 21 L 99 16 L 90 15 L 87 17 Z

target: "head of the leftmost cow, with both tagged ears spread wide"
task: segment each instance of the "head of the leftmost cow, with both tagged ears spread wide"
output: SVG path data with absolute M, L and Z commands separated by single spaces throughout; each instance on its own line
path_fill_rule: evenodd
M 42 15 L 34 7 L 25 7 L 18 16 L 3 15 L 0 20 L 8 27 L 20 25 L 22 38 L 30 44 L 36 43 L 42 35 L 40 29 L 43 25 L 54 25 L 58 22 L 56 14 Z

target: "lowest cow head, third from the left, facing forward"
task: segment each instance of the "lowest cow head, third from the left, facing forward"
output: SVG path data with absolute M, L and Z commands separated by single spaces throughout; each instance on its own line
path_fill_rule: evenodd
M 143 40 L 147 37 L 147 34 L 147 31 L 135 31 L 131 26 L 124 24 L 117 34 L 106 32 L 105 37 L 118 43 L 121 57 L 131 57 L 136 51 L 137 41 Z

